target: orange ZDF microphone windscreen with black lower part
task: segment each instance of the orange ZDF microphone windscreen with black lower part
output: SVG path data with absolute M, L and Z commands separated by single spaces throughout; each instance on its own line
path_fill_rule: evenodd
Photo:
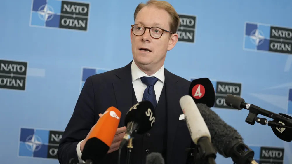
M 84 145 L 81 156 L 82 160 L 91 164 L 98 164 L 101 162 L 114 140 L 120 118 L 121 111 L 115 107 L 109 107 L 103 113 Z

